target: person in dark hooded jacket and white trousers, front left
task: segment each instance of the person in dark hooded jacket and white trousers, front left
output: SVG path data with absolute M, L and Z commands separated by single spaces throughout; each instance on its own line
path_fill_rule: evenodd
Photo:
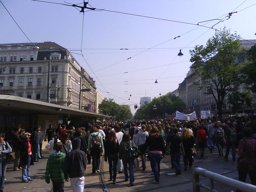
M 64 161 L 64 178 L 68 182 L 70 178 L 73 192 L 84 191 L 84 172 L 86 170 L 85 152 L 80 150 L 81 139 L 72 141 L 73 151 L 66 155 Z

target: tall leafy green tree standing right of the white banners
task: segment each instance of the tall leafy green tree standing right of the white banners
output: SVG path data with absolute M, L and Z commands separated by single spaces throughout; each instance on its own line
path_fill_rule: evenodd
M 245 75 L 241 73 L 244 65 L 244 53 L 237 35 L 229 35 L 230 30 L 223 29 L 210 38 L 206 46 L 195 46 L 190 50 L 191 68 L 201 77 L 200 88 L 206 88 L 205 94 L 212 94 L 217 104 L 218 115 L 222 118 L 222 105 L 227 94 L 239 89 Z

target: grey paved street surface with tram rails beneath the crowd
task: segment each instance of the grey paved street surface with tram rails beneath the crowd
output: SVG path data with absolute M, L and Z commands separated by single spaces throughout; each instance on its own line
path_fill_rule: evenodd
M 48 156 L 48 151 L 43 151 L 45 157 Z M 223 158 L 218 158 L 217 150 L 214 150 L 212 154 L 208 150 L 205 152 L 205 157 L 195 157 L 194 167 L 201 167 L 208 169 L 209 171 L 222 174 L 232 179 L 238 179 L 236 171 L 236 162 L 233 162 L 230 158 L 229 161 L 224 161 Z M 231 155 L 231 154 L 230 154 Z M 52 185 L 47 184 L 44 181 L 44 172 L 46 167 L 47 158 L 41 159 L 40 162 L 35 162 L 35 165 L 30 168 L 30 175 L 33 181 L 29 183 L 21 182 L 21 171 L 13 172 L 13 163 L 9 163 L 7 166 L 7 176 L 5 182 L 5 190 L 7 192 L 51 192 Z M 154 176 L 151 175 L 150 162 L 147 161 L 147 169 L 145 171 L 135 172 L 135 185 L 130 187 L 129 182 L 124 182 L 124 174 L 117 175 L 117 183 L 113 185 L 109 181 L 108 163 L 103 164 L 103 180 L 110 192 L 162 192 L 175 191 L 175 192 L 192 192 L 192 168 L 188 171 L 183 171 L 184 166 L 181 161 L 182 175 L 168 175 L 174 172 L 170 169 L 170 156 L 166 156 L 161 162 L 161 176 L 160 184 L 154 184 Z M 100 182 L 99 174 L 91 174 L 91 164 L 87 165 L 85 172 L 85 188 L 84 192 L 102 192 L 103 185 Z M 201 179 L 205 185 L 209 184 L 208 179 Z M 232 188 L 226 185 L 216 184 L 216 189 L 219 192 L 228 192 Z M 69 182 L 65 182 L 65 191 L 71 192 L 71 186 Z M 204 190 L 202 189 L 202 192 Z

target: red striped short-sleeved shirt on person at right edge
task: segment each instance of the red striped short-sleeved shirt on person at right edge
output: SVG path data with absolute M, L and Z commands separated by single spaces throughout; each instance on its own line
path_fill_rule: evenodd
M 245 142 L 247 144 L 247 150 L 248 152 L 245 152 Z M 256 140 L 253 138 L 246 138 L 241 139 L 239 141 L 239 146 L 238 146 L 238 152 L 240 154 L 246 155 L 248 154 L 249 158 L 251 159 L 252 165 L 256 166 Z

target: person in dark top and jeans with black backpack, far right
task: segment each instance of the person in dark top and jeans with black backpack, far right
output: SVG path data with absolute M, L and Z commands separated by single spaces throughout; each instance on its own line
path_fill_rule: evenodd
M 228 122 L 228 128 L 226 129 L 226 153 L 224 158 L 229 158 L 229 150 L 232 150 L 232 160 L 236 161 L 236 129 L 231 122 Z

